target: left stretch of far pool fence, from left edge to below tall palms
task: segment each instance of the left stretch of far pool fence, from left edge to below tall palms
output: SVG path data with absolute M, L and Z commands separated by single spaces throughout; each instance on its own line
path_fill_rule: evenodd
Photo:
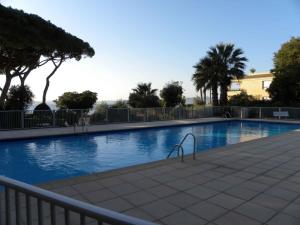
M 52 111 L 0 111 L 0 130 L 150 122 L 221 116 L 222 107 L 108 108 Z

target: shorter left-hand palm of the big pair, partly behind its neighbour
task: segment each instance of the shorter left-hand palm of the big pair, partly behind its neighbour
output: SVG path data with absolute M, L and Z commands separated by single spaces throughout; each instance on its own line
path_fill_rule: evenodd
M 206 101 L 206 91 L 212 90 L 213 105 L 218 105 L 218 76 L 214 70 L 214 62 L 212 58 L 204 57 L 194 68 L 192 80 L 197 91 L 202 91 Z

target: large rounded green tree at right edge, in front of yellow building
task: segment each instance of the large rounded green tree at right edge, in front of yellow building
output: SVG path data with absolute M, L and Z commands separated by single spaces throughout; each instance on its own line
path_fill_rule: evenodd
M 291 38 L 274 55 L 274 79 L 268 89 L 272 101 L 280 105 L 300 102 L 300 38 Z

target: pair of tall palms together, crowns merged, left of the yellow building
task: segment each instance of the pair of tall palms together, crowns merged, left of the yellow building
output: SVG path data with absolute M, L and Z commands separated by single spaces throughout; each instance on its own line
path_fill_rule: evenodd
M 234 44 L 217 44 L 211 47 L 206 57 L 194 66 L 196 71 L 192 77 L 196 90 L 212 89 L 213 104 L 218 105 L 218 86 L 220 86 L 220 104 L 227 104 L 228 86 L 232 79 L 244 76 L 247 58 L 240 48 Z

